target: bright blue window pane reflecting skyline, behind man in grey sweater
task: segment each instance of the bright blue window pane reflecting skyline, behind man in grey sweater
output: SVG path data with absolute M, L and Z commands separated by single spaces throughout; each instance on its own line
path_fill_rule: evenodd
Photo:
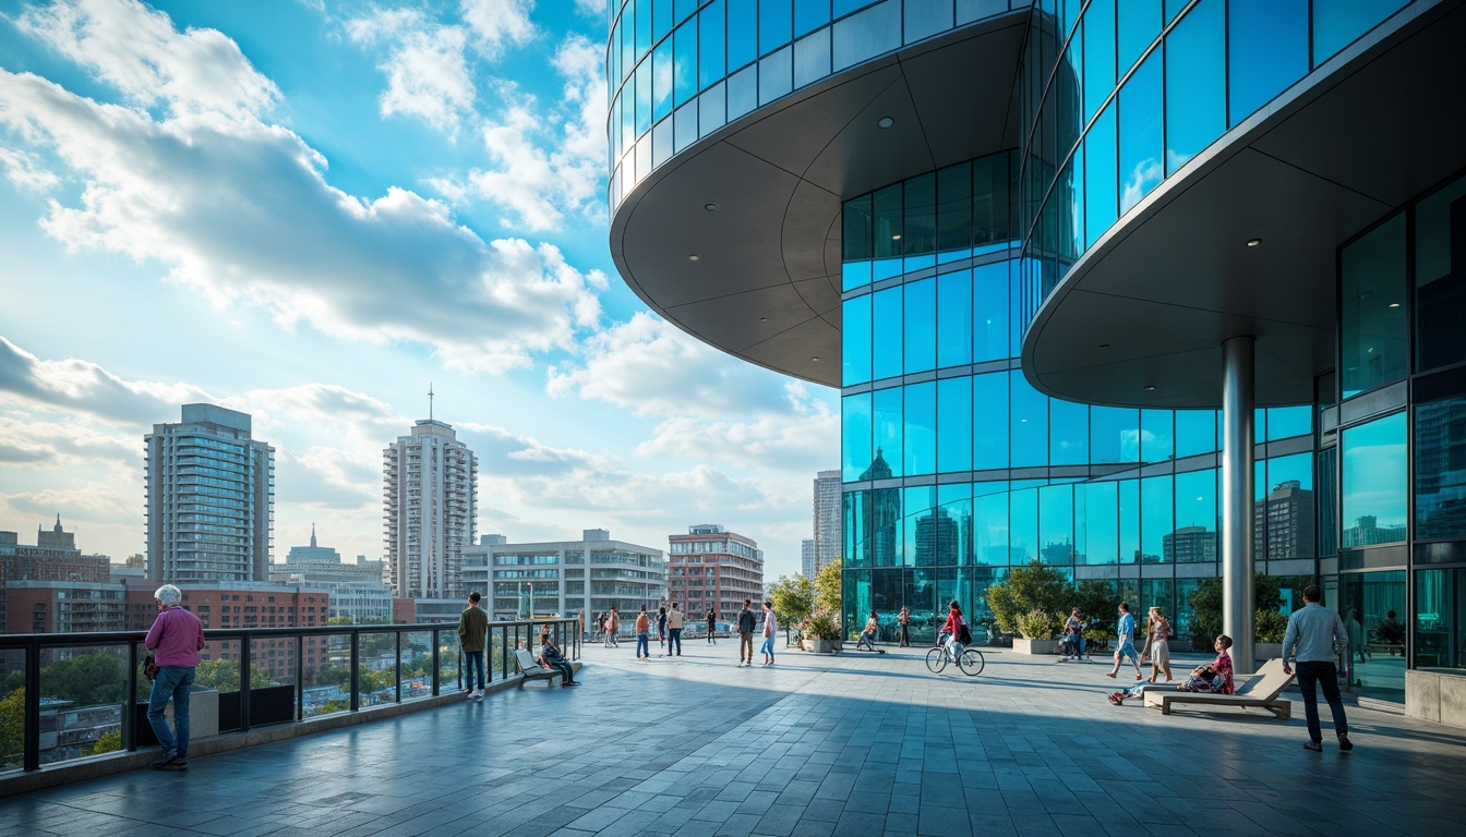
M 1343 547 L 1404 539 L 1404 413 L 1396 413 L 1341 434 Z

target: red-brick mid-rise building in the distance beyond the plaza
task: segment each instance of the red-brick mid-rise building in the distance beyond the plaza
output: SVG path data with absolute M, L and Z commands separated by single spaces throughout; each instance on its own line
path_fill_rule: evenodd
M 712 607 L 726 622 L 743 600 L 764 595 L 764 551 L 752 538 L 702 523 L 667 541 L 667 600 L 682 602 L 688 613 L 705 614 Z

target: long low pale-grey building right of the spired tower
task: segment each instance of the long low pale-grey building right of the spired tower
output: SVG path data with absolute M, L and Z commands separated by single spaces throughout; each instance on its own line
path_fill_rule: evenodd
M 487 597 L 493 619 L 585 613 L 589 624 L 613 607 L 630 614 L 667 601 L 667 561 L 661 550 L 613 541 L 607 529 L 585 529 L 579 541 L 538 544 L 485 535 L 463 551 L 463 582 Z

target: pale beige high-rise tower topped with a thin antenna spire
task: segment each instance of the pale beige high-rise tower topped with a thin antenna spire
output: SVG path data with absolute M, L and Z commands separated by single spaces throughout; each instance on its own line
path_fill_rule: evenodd
M 393 595 L 457 600 L 463 548 L 478 525 L 478 457 L 453 427 L 421 419 L 383 450 L 387 573 Z

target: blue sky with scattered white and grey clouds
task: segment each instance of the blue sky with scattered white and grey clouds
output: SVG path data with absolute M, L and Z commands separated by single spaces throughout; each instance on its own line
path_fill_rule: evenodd
M 837 393 L 729 358 L 607 245 L 605 0 L 0 0 L 0 529 L 147 548 L 144 435 L 276 449 L 273 558 L 383 556 L 381 451 L 432 415 L 478 532 L 799 570 Z

